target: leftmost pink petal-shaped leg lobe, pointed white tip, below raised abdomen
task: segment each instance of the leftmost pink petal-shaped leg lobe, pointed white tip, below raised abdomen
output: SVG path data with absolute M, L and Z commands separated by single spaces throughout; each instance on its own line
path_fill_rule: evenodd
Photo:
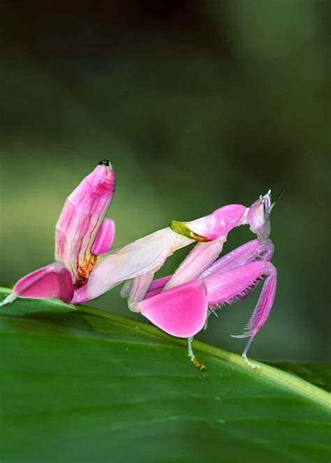
M 73 299 L 72 274 L 60 263 L 54 262 L 46 265 L 17 281 L 13 293 L 3 303 L 11 302 L 17 296 L 58 297 L 64 302 L 71 302 Z

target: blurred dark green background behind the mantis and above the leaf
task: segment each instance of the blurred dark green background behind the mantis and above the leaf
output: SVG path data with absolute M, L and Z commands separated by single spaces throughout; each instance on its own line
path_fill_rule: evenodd
M 115 247 L 286 185 L 272 212 L 277 298 L 250 353 L 328 358 L 330 2 L 7 1 L 0 13 L 0 279 L 52 260 L 66 196 L 104 157 Z M 224 251 L 252 238 L 238 228 Z M 258 292 L 198 337 L 241 352 L 229 335 Z M 92 304 L 135 316 L 119 288 Z

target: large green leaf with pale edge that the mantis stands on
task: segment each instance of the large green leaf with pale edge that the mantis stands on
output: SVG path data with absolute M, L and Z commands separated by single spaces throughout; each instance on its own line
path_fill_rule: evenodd
M 298 376 L 196 342 L 201 372 L 184 341 L 90 307 L 0 310 L 3 463 L 330 461 L 330 395 Z

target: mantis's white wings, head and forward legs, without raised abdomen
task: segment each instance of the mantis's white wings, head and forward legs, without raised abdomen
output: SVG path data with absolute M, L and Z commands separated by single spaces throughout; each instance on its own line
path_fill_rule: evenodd
M 266 277 L 247 332 L 250 337 L 244 361 L 251 367 L 247 351 L 263 327 L 274 301 L 277 271 L 270 263 L 273 253 L 270 235 L 271 193 L 251 205 L 227 205 L 191 222 L 172 221 L 170 226 L 121 249 L 100 256 L 87 282 L 87 296 L 94 299 L 124 281 L 122 295 L 128 307 L 138 311 L 168 334 L 188 339 L 189 356 L 196 359 L 191 343 L 220 304 L 231 304 L 248 295 Z M 230 230 L 249 224 L 253 240 L 216 260 Z M 177 249 L 198 241 L 189 256 L 170 276 L 153 281 L 154 273 Z M 214 263 L 214 265 L 213 265 Z

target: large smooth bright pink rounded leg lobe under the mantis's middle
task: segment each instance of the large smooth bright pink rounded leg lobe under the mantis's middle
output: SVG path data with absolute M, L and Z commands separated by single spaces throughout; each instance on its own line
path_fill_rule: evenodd
M 202 281 L 190 281 L 135 304 L 136 309 L 169 335 L 191 337 L 207 318 L 207 297 Z

